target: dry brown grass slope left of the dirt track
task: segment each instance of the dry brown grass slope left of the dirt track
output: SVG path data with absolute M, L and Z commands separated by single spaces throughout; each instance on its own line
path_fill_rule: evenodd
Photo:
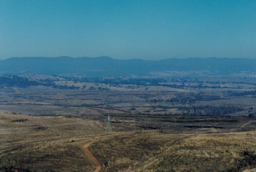
M 0 159 L 37 172 L 90 172 L 94 163 L 81 146 L 104 132 L 98 121 L 0 113 Z

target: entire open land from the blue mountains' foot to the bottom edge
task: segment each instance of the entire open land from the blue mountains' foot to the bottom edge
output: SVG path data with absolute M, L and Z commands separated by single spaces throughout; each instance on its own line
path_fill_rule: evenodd
M 256 171 L 254 79 L 5 77 L 0 172 Z

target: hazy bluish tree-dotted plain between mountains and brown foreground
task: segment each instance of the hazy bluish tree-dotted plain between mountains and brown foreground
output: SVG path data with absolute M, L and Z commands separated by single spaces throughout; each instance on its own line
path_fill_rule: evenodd
M 0 77 L 6 82 L 0 86 L 1 110 L 27 115 L 256 115 L 254 77 L 27 77 Z

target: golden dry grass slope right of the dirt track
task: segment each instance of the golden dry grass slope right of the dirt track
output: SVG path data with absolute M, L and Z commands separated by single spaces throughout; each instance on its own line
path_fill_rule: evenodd
M 92 146 L 106 172 L 240 172 L 252 169 L 256 132 L 115 135 Z M 244 160 L 245 159 L 245 160 Z M 231 170 L 231 171 L 228 171 Z

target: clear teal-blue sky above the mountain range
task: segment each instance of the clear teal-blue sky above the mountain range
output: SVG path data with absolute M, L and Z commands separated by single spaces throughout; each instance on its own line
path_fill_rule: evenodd
M 256 0 L 0 0 L 0 59 L 256 58 Z

